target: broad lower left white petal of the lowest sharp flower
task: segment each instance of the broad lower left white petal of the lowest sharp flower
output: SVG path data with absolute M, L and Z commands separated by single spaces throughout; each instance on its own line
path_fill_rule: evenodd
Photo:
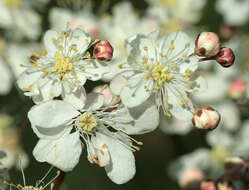
M 35 159 L 49 164 L 64 172 L 73 170 L 82 152 L 79 133 L 65 134 L 58 140 L 40 139 L 33 150 Z

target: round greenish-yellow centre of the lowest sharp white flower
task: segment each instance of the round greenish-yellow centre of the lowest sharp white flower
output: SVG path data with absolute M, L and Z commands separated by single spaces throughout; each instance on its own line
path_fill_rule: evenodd
M 97 118 L 91 112 L 85 112 L 77 118 L 79 128 L 85 132 L 93 132 L 97 125 Z

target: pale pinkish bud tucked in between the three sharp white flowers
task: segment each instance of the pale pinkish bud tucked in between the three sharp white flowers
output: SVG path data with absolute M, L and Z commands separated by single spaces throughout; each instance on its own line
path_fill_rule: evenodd
M 97 86 L 93 89 L 93 92 L 103 94 L 104 106 L 114 106 L 120 102 L 120 98 L 112 93 L 108 85 Z

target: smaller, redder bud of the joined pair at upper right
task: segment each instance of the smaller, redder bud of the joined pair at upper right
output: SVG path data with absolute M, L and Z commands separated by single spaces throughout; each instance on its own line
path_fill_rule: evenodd
M 230 67 L 234 63 L 234 60 L 235 55 L 233 53 L 233 50 L 226 47 L 221 48 L 220 52 L 216 56 L 216 61 L 222 67 Z

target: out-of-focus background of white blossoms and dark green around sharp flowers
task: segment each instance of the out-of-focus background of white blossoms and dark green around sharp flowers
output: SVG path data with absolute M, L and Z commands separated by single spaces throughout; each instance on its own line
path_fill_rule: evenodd
M 207 80 L 208 90 L 193 99 L 199 106 L 212 105 L 220 111 L 222 120 L 216 130 L 200 131 L 191 121 L 165 119 L 156 131 L 135 137 L 144 145 L 135 153 L 137 173 L 127 184 L 112 183 L 104 169 L 89 163 L 83 151 L 61 189 L 180 190 L 193 181 L 222 176 L 228 156 L 249 157 L 248 0 L 0 0 L 0 149 L 7 153 L 3 164 L 15 184 L 22 183 L 20 152 L 25 157 L 28 184 L 35 184 L 50 167 L 32 156 L 38 138 L 27 120 L 32 100 L 16 86 L 23 71 L 20 65 L 42 47 L 46 30 L 61 30 L 67 22 L 93 38 L 109 40 L 114 61 L 125 57 L 127 37 L 156 29 L 165 35 L 183 30 L 193 40 L 201 31 L 216 32 L 223 45 L 233 49 L 236 61 L 227 69 L 209 61 L 198 70 Z M 88 82 L 86 89 L 91 91 L 106 82 L 108 79 Z M 247 190 L 248 183 L 245 176 L 234 185 Z

